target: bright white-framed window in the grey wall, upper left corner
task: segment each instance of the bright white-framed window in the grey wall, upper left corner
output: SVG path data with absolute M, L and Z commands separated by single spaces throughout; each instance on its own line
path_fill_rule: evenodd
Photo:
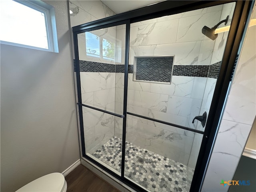
M 54 7 L 42 1 L 0 1 L 3 44 L 58 52 Z

